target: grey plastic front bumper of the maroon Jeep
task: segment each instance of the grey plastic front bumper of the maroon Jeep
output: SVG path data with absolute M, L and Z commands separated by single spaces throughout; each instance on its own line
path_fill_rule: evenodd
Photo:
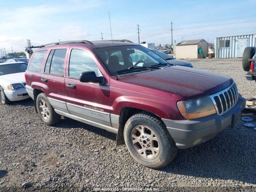
M 245 99 L 239 97 L 236 106 L 222 116 L 213 114 L 194 120 L 169 120 L 163 118 L 162 120 L 176 142 L 176 146 L 180 149 L 185 149 L 201 144 L 216 136 L 224 128 L 232 124 L 232 118 L 240 118 L 244 108 Z

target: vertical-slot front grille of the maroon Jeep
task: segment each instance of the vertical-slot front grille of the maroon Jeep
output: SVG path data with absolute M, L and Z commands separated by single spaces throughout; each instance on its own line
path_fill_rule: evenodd
M 210 95 L 210 98 L 219 115 L 223 115 L 231 110 L 238 101 L 238 90 L 235 82 L 228 88 Z

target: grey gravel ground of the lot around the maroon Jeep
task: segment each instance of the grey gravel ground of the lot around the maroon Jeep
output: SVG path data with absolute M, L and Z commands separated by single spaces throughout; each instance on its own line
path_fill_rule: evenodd
M 244 78 L 241 59 L 190 61 L 196 68 L 232 77 L 246 98 L 256 92 L 255 82 Z M 208 142 L 179 150 L 161 170 L 135 162 L 124 145 L 115 147 L 115 137 L 66 117 L 56 126 L 45 126 L 31 99 L 0 105 L 0 191 L 154 187 L 256 192 L 256 131 L 243 122 Z

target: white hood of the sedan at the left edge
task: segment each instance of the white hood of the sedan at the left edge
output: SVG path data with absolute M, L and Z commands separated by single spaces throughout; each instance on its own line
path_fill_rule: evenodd
M 24 82 L 25 82 L 25 72 L 0 76 L 0 85 L 2 87 L 7 87 L 8 85 L 14 84 L 14 83 L 24 83 Z

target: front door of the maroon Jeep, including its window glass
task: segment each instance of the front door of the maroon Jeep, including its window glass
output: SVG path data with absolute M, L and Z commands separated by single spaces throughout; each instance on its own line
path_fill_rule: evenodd
M 97 76 L 102 74 L 88 52 L 72 46 L 70 51 L 68 74 L 65 78 L 68 111 L 80 118 L 111 126 L 108 83 L 99 85 L 80 82 L 79 77 L 82 72 L 94 71 Z

